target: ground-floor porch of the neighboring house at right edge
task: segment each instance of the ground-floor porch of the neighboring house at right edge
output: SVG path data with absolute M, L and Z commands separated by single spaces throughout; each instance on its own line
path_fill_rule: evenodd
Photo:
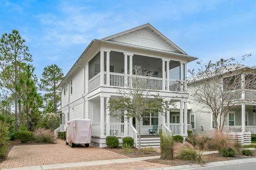
M 243 103 L 230 110 L 224 132 L 251 132 L 256 134 L 256 110 L 252 103 Z

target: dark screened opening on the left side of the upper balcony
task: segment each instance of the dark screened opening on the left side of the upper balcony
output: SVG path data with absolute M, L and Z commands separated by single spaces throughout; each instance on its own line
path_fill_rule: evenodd
M 89 79 L 99 74 L 100 72 L 100 52 L 89 61 Z

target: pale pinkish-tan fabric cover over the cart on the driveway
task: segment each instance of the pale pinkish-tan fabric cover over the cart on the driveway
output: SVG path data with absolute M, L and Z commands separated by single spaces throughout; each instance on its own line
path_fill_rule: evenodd
M 91 143 L 92 124 L 90 119 L 74 119 L 68 121 L 66 141 L 68 143 Z

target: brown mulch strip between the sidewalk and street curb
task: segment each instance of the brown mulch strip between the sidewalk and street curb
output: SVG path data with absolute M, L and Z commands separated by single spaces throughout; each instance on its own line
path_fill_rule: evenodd
M 225 160 L 244 159 L 244 158 L 253 158 L 253 157 L 256 157 L 256 151 L 253 151 L 253 156 L 237 155 L 236 157 L 222 157 L 219 153 L 212 153 L 209 155 L 205 155 L 207 163 L 214 162 L 214 161 L 225 161 Z M 170 166 L 196 164 L 194 161 L 191 161 L 191 160 L 179 160 L 179 159 L 173 159 L 173 160 L 150 159 L 145 161 L 149 163 L 164 164 L 164 165 L 170 165 Z

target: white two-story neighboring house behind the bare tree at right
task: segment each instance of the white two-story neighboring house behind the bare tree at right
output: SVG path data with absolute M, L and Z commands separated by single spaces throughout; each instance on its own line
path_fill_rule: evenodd
M 251 71 L 244 71 L 244 70 Z M 218 82 L 223 89 L 226 100 L 236 103 L 235 106 L 229 110 L 225 118 L 225 126 L 223 132 L 248 136 L 256 134 L 256 75 L 255 68 L 244 65 L 232 65 L 226 68 L 226 72 L 222 74 L 221 82 Z M 233 73 L 230 73 L 230 70 Z M 236 72 L 234 73 L 234 70 Z M 233 78 L 236 76 L 236 78 Z M 236 79 L 237 85 L 234 89 L 230 84 Z M 196 83 L 200 84 L 202 80 Z M 193 83 L 188 83 L 188 93 L 193 93 Z M 203 103 L 198 103 L 189 98 L 188 102 L 188 124 L 191 124 L 195 134 L 212 135 L 214 132 L 214 118 L 209 106 Z M 224 117 L 222 117 L 223 120 Z M 219 121 L 219 119 L 218 119 Z M 220 123 L 220 122 L 219 122 Z M 250 144 L 251 138 L 247 137 L 247 144 Z M 244 141 L 245 143 L 245 141 Z

